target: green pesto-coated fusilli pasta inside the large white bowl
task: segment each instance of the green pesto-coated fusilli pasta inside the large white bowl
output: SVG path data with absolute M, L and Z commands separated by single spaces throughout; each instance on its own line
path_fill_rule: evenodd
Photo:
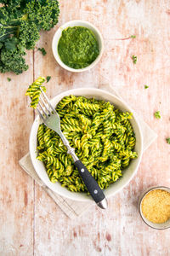
M 122 177 L 122 170 L 138 157 L 133 151 L 132 113 L 123 113 L 110 102 L 72 95 L 65 96 L 56 111 L 61 131 L 101 189 Z M 87 191 L 61 138 L 43 124 L 37 132 L 37 149 L 37 159 L 46 166 L 52 183 L 58 181 L 75 192 Z

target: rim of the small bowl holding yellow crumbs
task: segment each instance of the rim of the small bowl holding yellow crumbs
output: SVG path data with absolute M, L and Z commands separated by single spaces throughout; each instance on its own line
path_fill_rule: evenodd
M 154 227 L 154 223 L 153 225 L 149 224 L 149 222 L 147 222 L 145 219 L 144 219 L 144 214 L 142 212 L 142 201 L 144 200 L 144 197 L 145 195 L 148 195 L 150 193 L 150 191 L 153 191 L 153 190 L 157 190 L 157 189 L 161 189 L 161 190 L 164 190 L 164 191 L 167 191 L 169 190 L 169 193 L 170 193 L 170 188 L 168 188 L 167 186 L 152 186 L 148 189 L 145 189 L 144 192 L 142 193 L 142 195 L 140 195 L 140 198 L 139 198 L 139 213 L 140 213 L 140 217 L 142 218 L 142 220 L 144 221 L 145 224 L 147 224 L 147 226 L 149 226 L 151 229 L 154 229 L 154 230 L 167 230 L 170 228 L 170 224 L 169 226 L 165 227 L 165 228 L 156 228 Z

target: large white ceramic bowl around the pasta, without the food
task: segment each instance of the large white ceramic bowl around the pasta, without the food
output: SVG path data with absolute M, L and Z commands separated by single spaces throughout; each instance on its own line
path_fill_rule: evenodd
M 53 107 L 64 97 L 69 95 L 75 96 L 86 96 L 86 97 L 95 97 L 99 100 L 104 100 L 106 102 L 111 102 L 116 108 L 121 109 L 122 111 L 129 111 L 133 113 L 133 110 L 127 106 L 125 102 L 113 96 L 111 93 L 106 92 L 105 90 L 92 89 L 92 88 L 82 88 L 82 89 L 74 89 L 74 90 L 66 90 L 63 93 L 60 93 L 58 96 L 55 96 L 51 103 Z M 133 114 L 133 119 L 131 120 L 133 125 L 133 131 L 136 136 L 136 145 L 135 150 L 138 152 L 139 157 L 131 161 L 130 165 L 127 167 L 125 172 L 123 173 L 122 178 L 117 180 L 116 183 L 112 183 L 108 189 L 105 189 L 105 195 L 107 197 L 111 195 L 115 195 L 116 192 L 121 190 L 130 180 L 133 178 L 134 174 L 137 172 L 139 167 L 139 163 L 142 157 L 143 150 L 143 139 L 139 126 L 139 121 Z M 86 195 L 85 193 L 75 193 L 71 192 L 68 189 L 65 189 L 60 185 L 60 183 L 51 183 L 48 174 L 46 172 L 45 166 L 43 166 L 42 162 L 37 160 L 37 129 L 40 124 L 39 116 L 35 119 L 32 127 L 31 127 L 31 135 L 30 135 L 30 154 L 32 164 L 37 172 L 37 175 L 42 179 L 43 183 L 45 183 L 49 189 L 52 189 L 54 192 L 59 195 L 70 198 L 75 201 L 91 201 L 91 197 Z

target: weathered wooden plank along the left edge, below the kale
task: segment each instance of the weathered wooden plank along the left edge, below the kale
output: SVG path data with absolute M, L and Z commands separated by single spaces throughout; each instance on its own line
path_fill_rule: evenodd
M 27 83 L 33 77 L 31 52 L 26 59 L 30 65 L 26 73 L 0 77 L 0 255 L 3 256 L 33 253 L 34 185 L 18 163 L 28 151 L 33 120 L 25 96 Z

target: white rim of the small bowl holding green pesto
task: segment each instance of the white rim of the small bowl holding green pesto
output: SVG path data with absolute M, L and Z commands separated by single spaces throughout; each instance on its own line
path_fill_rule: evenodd
M 71 26 L 73 23 L 82 23 L 82 26 L 85 26 L 85 27 L 86 27 L 86 25 L 88 25 L 88 26 L 92 27 L 94 29 L 94 31 L 99 36 L 99 40 L 100 40 L 100 44 L 101 44 L 101 49 L 99 50 L 99 55 L 88 67 L 83 67 L 83 68 L 78 68 L 78 69 L 69 67 L 69 66 L 65 65 L 65 63 L 63 61 L 61 61 L 61 59 L 59 57 L 58 48 L 56 47 L 56 44 L 58 45 L 60 37 L 58 39 L 56 39 L 56 38 L 59 35 L 59 33 L 61 33 L 68 26 Z M 80 25 L 74 25 L 74 26 L 80 26 Z M 59 26 L 59 28 L 54 33 L 54 37 L 52 40 L 52 51 L 53 51 L 54 58 L 58 62 L 60 67 L 63 67 L 65 70 L 73 72 L 73 73 L 82 73 L 82 72 L 88 71 L 91 68 L 93 68 L 95 65 L 97 65 L 97 63 L 101 59 L 101 56 L 103 55 L 103 52 L 104 52 L 104 40 L 103 40 L 101 33 L 99 32 L 99 29 L 96 26 L 94 26 L 92 23 L 90 23 L 86 20 L 70 20 L 70 21 L 65 22 L 63 25 Z

